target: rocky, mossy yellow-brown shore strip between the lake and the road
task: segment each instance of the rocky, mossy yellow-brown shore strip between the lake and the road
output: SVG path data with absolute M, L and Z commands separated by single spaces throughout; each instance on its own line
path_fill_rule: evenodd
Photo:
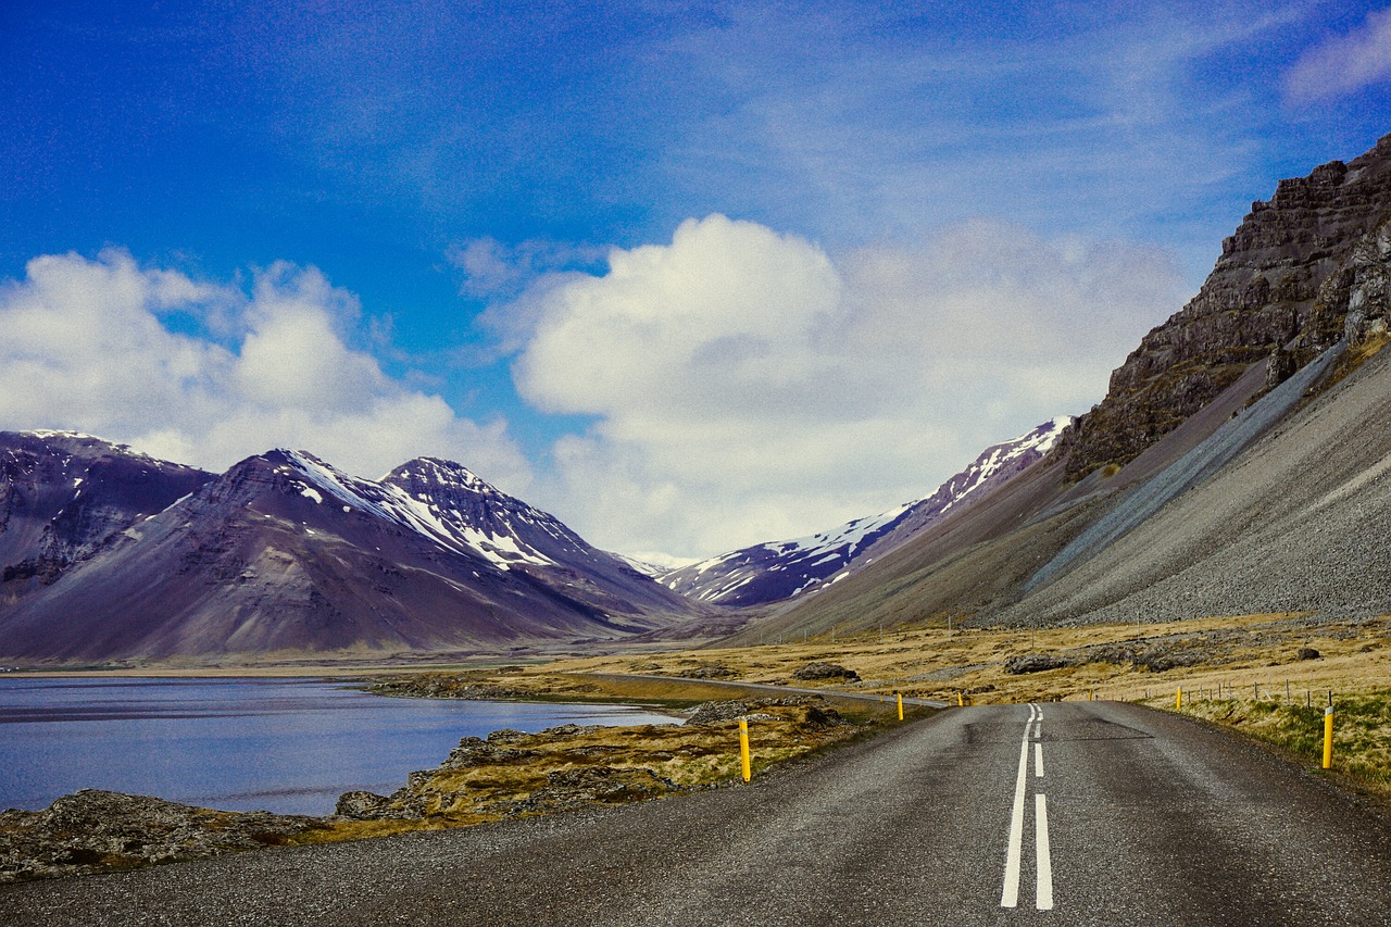
M 755 771 L 864 729 L 819 697 L 803 696 L 705 703 L 684 724 L 494 731 L 485 739 L 463 738 L 437 768 L 412 772 L 389 796 L 344 793 L 327 817 L 220 811 L 83 789 L 42 811 L 0 811 L 0 882 L 467 827 L 714 788 L 737 778 L 739 717 L 750 720 Z

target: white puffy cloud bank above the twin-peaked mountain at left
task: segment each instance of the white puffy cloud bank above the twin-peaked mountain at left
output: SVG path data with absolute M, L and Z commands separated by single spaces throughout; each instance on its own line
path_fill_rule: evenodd
M 179 315 L 225 337 L 181 334 Z M 246 294 L 121 251 L 36 258 L 0 290 L 0 427 L 75 429 L 211 469 L 277 445 L 366 476 L 448 455 L 524 489 L 506 425 L 387 376 L 351 345 L 359 316 L 351 294 L 285 263 Z

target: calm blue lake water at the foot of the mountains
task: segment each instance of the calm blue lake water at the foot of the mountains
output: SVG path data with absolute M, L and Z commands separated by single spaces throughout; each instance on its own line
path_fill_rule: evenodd
M 0 809 L 99 788 L 330 814 L 342 792 L 389 795 L 463 736 L 672 721 L 623 706 L 387 699 L 312 679 L 0 678 Z

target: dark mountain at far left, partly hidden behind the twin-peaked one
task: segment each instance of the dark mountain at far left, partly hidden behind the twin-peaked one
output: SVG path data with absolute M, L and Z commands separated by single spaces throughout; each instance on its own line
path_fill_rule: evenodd
M 210 479 L 89 434 L 0 431 L 0 603 L 53 585 Z

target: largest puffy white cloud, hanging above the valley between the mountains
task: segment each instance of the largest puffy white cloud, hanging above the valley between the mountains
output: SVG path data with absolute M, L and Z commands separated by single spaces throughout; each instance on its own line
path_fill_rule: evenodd
M 531 294 L 517 390 L 598 418 L 556 444 L 538 491 L 616 550 L 830 528 L 1085 411 L 1181 285 L 1152 249 L 999 223 L 833 259 L 755 223 L 689 220 Z

